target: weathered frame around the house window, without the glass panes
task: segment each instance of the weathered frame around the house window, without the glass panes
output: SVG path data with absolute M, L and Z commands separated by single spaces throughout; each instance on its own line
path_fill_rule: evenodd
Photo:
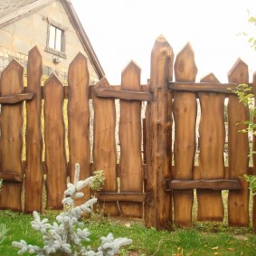
M 62 31 L 62 42 L 61 42 L 61 51 L 58 51 L 56 49 L 53 49 L 49 46 L 50 43 L 50 34 L 51 34 L 51 27 L 54 27 L 56 29 L 59 29 Z M 48 27 L 47 27 L 47 42 L 45 47 L 45 52 L 50 52 L 54 55 L 60 56 L 64 59 L 67 58 L 67 55 L 65 53 L 66 50 L 66 38 L 65 38 L 65 32 L 67 31 L 67 28 L 65 28 L 62 24 L 56 23 L 50 19 L 48 19 Z

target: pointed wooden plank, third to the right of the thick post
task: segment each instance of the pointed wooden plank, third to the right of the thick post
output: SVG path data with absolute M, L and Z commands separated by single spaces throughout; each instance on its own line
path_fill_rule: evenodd
M 248 66 L 240 59 L 228 74 L 229 82 L 248 83 Z M 236 95 L 229 97 L 228 104 L 228 141 L 229 141 L 229 177 L 240 178 L 248 174 L 249 140 L 248 134 L 239 133 L 246 125 L 239 123 L 249 119 L 249 111 Z M 228 196 L 228 220 L 231 226 L 249 224 L 249 190 L 247 182 L 241 178 L 242 190 L 230 191 Z

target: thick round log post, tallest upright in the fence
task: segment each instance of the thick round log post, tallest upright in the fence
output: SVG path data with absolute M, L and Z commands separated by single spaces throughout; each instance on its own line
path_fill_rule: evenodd
M 173 78 L 174 53 L 166 38 L 160 35 L 151 52 L 149 90 L 153 102 L 147 102 L 147 227 L 170 229 L 172 196 L 165 192 L 164 180 L 171 176 L 171 94 L 167 81 Z

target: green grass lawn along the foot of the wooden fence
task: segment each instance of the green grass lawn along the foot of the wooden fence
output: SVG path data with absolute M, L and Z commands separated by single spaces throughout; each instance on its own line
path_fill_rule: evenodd
M 43 217 L 51 221 L 55 213 Z M 40 233 L 31 228 L 32 215 L 0 211 L 0 223 L 9 228 L 0 245 L 0 255 L 17 255 L 11 243 L 24 239 L 32 244 L 42 244 Z M 115 237 L 129 237 L 133 243 L 121 255 L 256 255 L 256 235 L 249 228 L 228 228 L 225 223 L 194 223 L 193 229 L 175 228 L 173 232 L 147 229 L 141 221 L 96 218 L 84 220 L 91 235 L 91 246 L 97 248 L 100 237 L 113 232 Z M 29 255 L 29 254 L 24 254 Z M 132 255 L 132 254 L 131 254 Z

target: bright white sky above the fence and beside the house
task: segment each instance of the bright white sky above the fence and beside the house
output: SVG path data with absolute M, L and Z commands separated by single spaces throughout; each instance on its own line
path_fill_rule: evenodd
M 248 11 L 256 16 L 256 0 L 71 0 L 110 84 L 133 60 L 141 83 L 150 78 L 150 54 L 163 34 L 175 56 L 191 43 L 198 69 L 196 81 L 210 72 L 221 82 L 238 58 L 256 71 L 256 51 L 249 33 Z

